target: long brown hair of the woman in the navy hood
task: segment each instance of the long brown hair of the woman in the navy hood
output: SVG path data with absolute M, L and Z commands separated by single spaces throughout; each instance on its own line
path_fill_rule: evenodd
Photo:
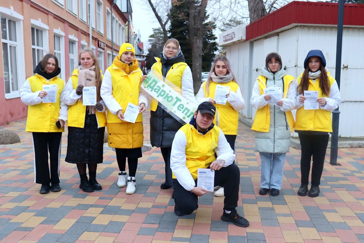
M 329 96 L 330 94 L 330 82 L 329 82 L 329 77 L 327 76 L 327 72 L 326 69 L 324 67 L 324 65 L 322 65 L 322 60 L 320 58 L 320 70 L 321 70 L 321 74 L 319 77 L 319 85 L 320 85 L 320 89 L 321 92 L 323 93 L 323 95 L 325 96 Z M 298 85 L 297 89 L 298 92 L 303 95 L 305 90 L 308 90 L 308 72 L 310 72 L 310 68 L 307 65 L 305 71 L 302 74 L 302 79 L 300 84 Z

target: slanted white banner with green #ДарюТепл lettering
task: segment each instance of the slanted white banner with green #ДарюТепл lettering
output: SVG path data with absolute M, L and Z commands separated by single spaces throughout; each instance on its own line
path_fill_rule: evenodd
M 166 82 L 168 81 L 166 80 Z M 160 80 L 153 74 L 153 72 L 149 72 L 144 82 L 142 82 L 141 87 L 185 123 L 189 123 L 191 121 L 193 114 L 197 109 L 195 104 L 189 104 L 182 95 L 176 92 L 174 88 Z M 175 88 L 179 89 L 177 87 Z

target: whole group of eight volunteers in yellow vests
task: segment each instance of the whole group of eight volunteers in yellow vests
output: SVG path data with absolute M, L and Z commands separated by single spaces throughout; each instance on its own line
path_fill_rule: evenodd
M 119 166 L 117 186 L 126 194 L 135 193 L 135 174 L 138 158 L 142 157 L 143 117 L 148 106 L 147 94 L 141 89 L 146 76 L 134 58 L 134 47 L 120 46 L 119 55 L 104 75 L 91 50 L 78 55 L 79 65 L 67 83 L 60 79 L 58 59 L 47 54 L 36 66 L 34 76 L 21 87 L 20 96 L 28 105 L 26 131 L 32 132 L 34 146 L 34 182 L 41 184 L 40 193 L 58 192 L 60 183 L 60 150 L 64 123 L 68 125 L 65 161 L 77 166 L 80 188 L 84 192 L 102 190 L 96 181 L 97 164 L 103 162 L 103 139 L 107 127 L 108 146 L 115 148 Z M 178 40 L 169 39 L 156 57 L 151 72 L 173 86 L 187 102 L 197 107 L 191 121 L 185 125 L 152 97 L 150 104 L 150 142 L 160 147 L 165 161 L 165 182 L 161 189 L 173 187 L 174 212 L 189 215 L 198 208 L 198 197 L 207 190 L 197 186 L 198 169 L 215 171 L 215 196 L 225 196 L 221 219 L 240 227 L 248 220 L 237 210 L 240 170 L 234 163 L 234 145 L 238 134 L 238 111 L 245 107 L 242 91 L 237 84 L 230 62 L 225 57 L 215 58 L 207 81 L 194 96 L 190 67 Z M 290 133 L 298 132 L 302 147 L 301 187 L 298 195 L 306 196 L 310 161 L 313 159 L 309 196 L 320 192 L 321 173 L 331 128 L 331 111 L 341 102 L 336 81 L 325 69 L 326 61 L 320 50 L 312 50 L 304 61 L 304 72 L 295 80 L 286 74 L 278 53 L 269 53 L 265 66 L 254 84 L 251 104 L 257 108 L 252 126 L 256 137 L 256 151 L 260 152 L 261 188 L 265 195 L 277 196 L 282 186 L 285 154 L 289 151 Z M 45 86 L 56 89 L 44 91 Z M 226 103 L 215 101 L 218 86 L 229 90 Z M 269 102 L 267 87 L 280 87 L 281 100 Z M 83 105 L 83 90 L 96 87 L 95 105 Z M 55 91 L 56 90 L 56 91 Z M 318 91 L 319 109 L 304 109 L 304 91 Z M 51 93 L 52 92 L 52 93 Z M 223 93 L 225 94 L 225 93 Z M 44 97 L 54 96 L 46 102 Z M 135 123 L 124 120 L 128 104 L 137 105 Z M 297 109 L 296 122 L 292 110 Z M 50 169 L 48 167 L 48 151 Z M 128 175 L 126 171 L 128 162 Z M 86 173 L 88 167 L 88 175 Z

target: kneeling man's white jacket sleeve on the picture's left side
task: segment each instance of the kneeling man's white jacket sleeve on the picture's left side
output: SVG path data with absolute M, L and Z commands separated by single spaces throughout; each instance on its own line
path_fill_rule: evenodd
M 190 191 L 195 187 L 195 181 L 186 166 L 186 145 L 186 135 L 181 130 L 177 131 L 172 143 L 171 170 L 179 184 Z

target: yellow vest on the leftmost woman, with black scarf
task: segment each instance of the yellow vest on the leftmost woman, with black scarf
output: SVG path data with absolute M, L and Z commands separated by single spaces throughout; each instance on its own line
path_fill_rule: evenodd
M 64 87 L 64 81 L 56 76 L 47 82 L 46 78 L 35 74 L 28 78 L 32 92 L 43 90 L 43 84 L 57 85 L 57 102 L 56 103 L 39 103 L 37 105 L 28 105 L 28 117 L 25 131 L 27 132 L 63 132 L 64 127 L 58 129 L 56 121 L 59 117 L 60 100 L 59 97 Z

